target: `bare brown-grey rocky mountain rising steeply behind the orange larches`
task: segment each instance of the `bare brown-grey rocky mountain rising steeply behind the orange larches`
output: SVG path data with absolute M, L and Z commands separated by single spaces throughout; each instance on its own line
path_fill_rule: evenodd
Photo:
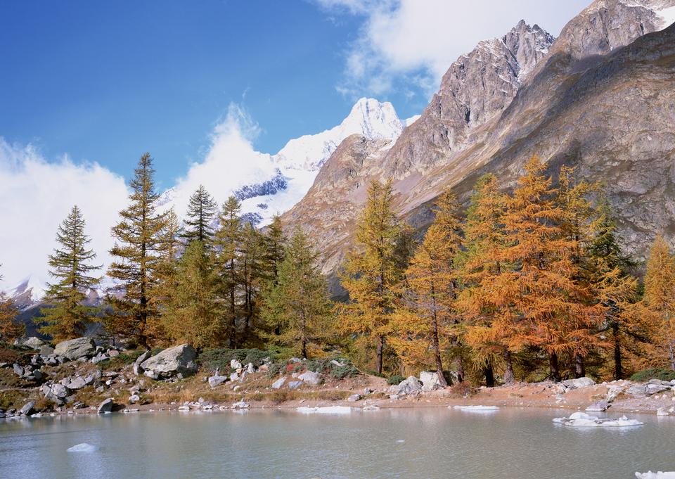
M 397 212 L 424 229 L 445 186 L 466 201 L 491 172 L 508 189 L 539 155 L 605 181 L 631 253 L 643 255 L 655 231 L 672 240 L 675 27 L 662 29 L 674 12 L 675 0 L 598 0 L 555 41 L 521 22 L 480 42 L 392 148 L 372 154 L 367 139 L 346 139 L 323 167 L 339 188 L 319 174 L 284 219 L 319 241 L 324 272 L 335 272 L 371 179 L 394 179 Z

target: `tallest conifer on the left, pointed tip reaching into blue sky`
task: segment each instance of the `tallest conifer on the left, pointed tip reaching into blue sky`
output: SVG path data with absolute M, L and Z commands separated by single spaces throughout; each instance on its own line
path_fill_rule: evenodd
M 108 293 L 112 314 L 105 320 L 110 332 L 150 347 L 159 324 L 158 266 L 164 246 L 165 217 L 157 211 L 158 193 L 153 180 L 153 158 L 144 153 L 131 180 L 131 204 L 120 211 L 122 219 L 113 226 L 114 260 L 108 276 L 116 285 Z

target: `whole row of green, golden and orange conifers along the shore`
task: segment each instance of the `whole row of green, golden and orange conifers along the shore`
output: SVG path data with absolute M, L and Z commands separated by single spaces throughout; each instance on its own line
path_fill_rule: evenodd
M 189 343 L 199 351 L 340 352 L 362 371 L 439 373 L 442 385 L 546 378 L 626 378 L 675 371 L 675 257 L 657 235 L 646 262 L 622 250 L 602 184 L 539 158 L 513 191 L 481 177 L 468 205 L 447 189 L 426 231 L 394 212 L 390 182 L 371 182 L 334 300 L 319 254 L 281 217 L 257 229 L 230 197 L 200 186 L 184 220 L 158 205 L 153 158 L 139 160 L 111 234 L 106 272 L 73 206 L 49 256 L 52 277 L 35 321 L 65 340 L 90 324 L 124 344 Z M 107 276 L 101 305 L 87 293 Z M 0 335 L 25 332 L 0 298 Z

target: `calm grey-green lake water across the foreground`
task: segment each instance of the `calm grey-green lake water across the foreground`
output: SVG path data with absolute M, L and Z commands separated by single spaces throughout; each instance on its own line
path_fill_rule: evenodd
M 630 415 L 645 425 L 615 429 L 551 422 L 569 414 L 439 407 L 1 421 L 0 477 L 629 479 L 675 471 L 675 418 Z M 99 449 L 67 452 L 82 442 Z

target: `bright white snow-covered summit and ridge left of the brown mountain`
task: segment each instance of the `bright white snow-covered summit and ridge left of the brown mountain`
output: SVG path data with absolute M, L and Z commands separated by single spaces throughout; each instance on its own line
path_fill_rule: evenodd
M 361 98 L 337 127 L 290 140 L 274 159 L 282 170 L 317 171 L 347 136 L 361 134 L 369 139 L 394 140 L 403 129 L 391 103 Z

